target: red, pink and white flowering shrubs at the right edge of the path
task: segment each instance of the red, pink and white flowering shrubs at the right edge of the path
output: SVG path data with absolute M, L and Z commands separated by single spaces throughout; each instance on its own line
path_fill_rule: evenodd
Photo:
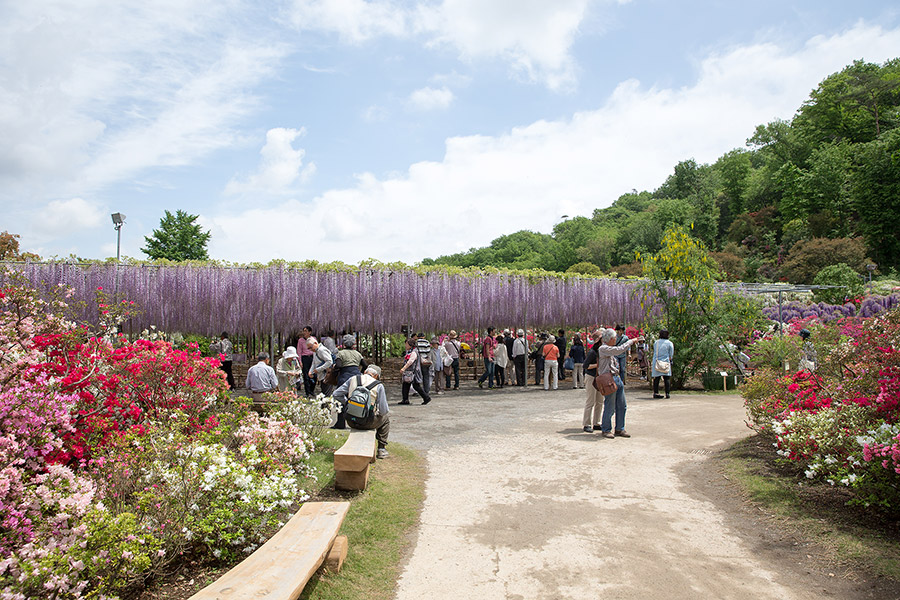
M 900 512 L 900 309 L 805 324 L 815 372 L 760 369 L 742 388 L 750 426 L 772 434 L 778 454 L 801 463 L 808 478 Z M 783 343 L 796 352 L 794 333 Z

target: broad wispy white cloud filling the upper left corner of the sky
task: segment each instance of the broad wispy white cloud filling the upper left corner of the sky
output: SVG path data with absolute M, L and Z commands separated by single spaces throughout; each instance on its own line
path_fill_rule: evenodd
M 244 10 L 241 0 L 4 4 L 0 181 L 33 196 L 85 193 L 230 144 L 254 107 L 250 87 L 285 53 L 241 30 Z

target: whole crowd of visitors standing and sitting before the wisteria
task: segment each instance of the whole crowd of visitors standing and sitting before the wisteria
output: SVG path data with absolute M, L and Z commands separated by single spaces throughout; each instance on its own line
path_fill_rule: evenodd
M 559 389 L 559 383 L 571 376 L 573 389 L 586 390 L 582 418 L 586 433 L 599 432 L 607 438 L 631 437 L 625 429 L 625 373 L 632 346 L 636 346 L 641 379 L 646 380 L 650 373 L 653 397 L 663 398 L 659 393 L 661 381 L 665 398 L 669 397 L 675 350 L 666 330 L 659 332 L 652 352 L 642 335 L 629 338 L 621 325 L 597 329 L 585 335 L 585 339 L 582 334 L 574 334 L 571 345 L 562 329 L 556 335 L 539 333 L 533 344 L 529 343 L 524 329 L 515 332 L 504 329 L 496 335 L 494 332 L 493 327 L 488 327 L 475 348 L 462 343 L 455 330 L 431 338 L 424 333 L 408 337 L 400 367 L 402 385 L 398 404 L 410 404 L 411 391 L 426 405 L 431 402 L 432 394 L 458 390 L 460 361 L 467 358 L 468 351 L 472 351 L 474 357 L 476 350 L 484 364 L 477 382 L 482 389 L 485 384 L 488 389 L 511 385 L 524 387 L 528 360 L 534 363 L 535 385 L 543 385 L 545 390 Z M 359 385 L 369 386 L 376 410 L 372 429 L 376 430 L 378 457 L 384 458 L 387 456 L 390 408 L 384 384 L 380 381 L 381 368 L 366 363 L 356 349 L 354 335 L 343 335 L 339 340 L 340 344 L 327 334 L 319 340 L 313 335 L 312 327 L 304 327 L 297 345 L 287 346 L 274 368 L 270 366 L 268 353 L 257 355 L 257 363 L 247 372 L 247 388 L 254 402 L 261 402 L 263 394 L 274 391 L 296 390 L 298 394 L 314 397 L 317 387 L 323 395 L 342 402 Z M 228 333 L 223 332 L 210 349 L 217 355 L 224 355 L 222 369 L 233 389 L 233 346 Z M 339 411 L 333 427 L 346 428 L 343 412 Z

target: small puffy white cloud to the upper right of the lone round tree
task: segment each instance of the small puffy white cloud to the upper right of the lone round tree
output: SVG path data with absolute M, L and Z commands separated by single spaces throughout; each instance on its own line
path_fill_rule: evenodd
M 266 144 L 259 151 L 259 168 L 244 180 L 232 179 L 226 194 L 252 193 L 280 195 L 296 191 L 316 172 L 315 163 L 303 165 L 306 151 L 294 149 L 293 142 L 306 135 L 306 129 L 277 127 L 266 133 Z

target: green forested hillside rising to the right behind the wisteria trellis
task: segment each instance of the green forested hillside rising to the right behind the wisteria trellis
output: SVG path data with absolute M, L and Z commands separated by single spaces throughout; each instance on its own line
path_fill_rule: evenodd
M 598 198 L 598 204 L 605 204 Z M 713 164 L 675 165 L 552 235 L 519 231 L 423 264 L 636 275 L 637 253 L 689 227 L 723 279 L 811 283 L 829 265 L 900 267 L 900 59 L 854 62 L 812 91 L 791 121 L 759 125 Z

